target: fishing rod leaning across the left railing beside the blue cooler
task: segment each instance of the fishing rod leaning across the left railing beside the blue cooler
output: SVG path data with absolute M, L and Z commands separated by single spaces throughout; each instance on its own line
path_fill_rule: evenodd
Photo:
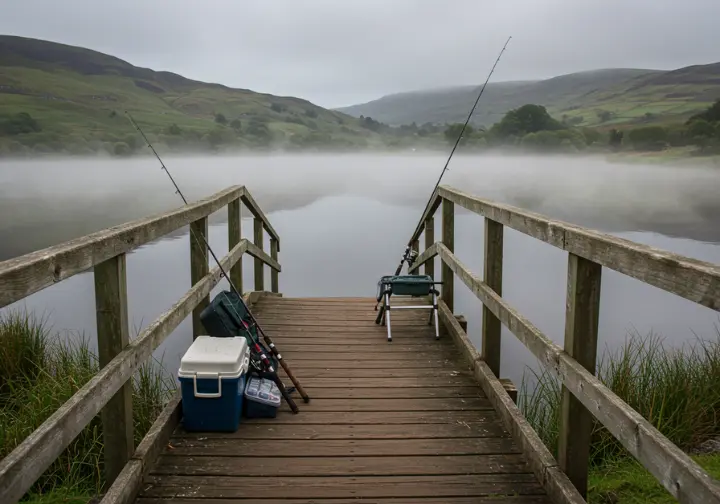
M 130 115 L 130 113 L 127 110 L 125 111 L 125 114 L 128 116 L 128 118 L 130 119 L 130 122 L 132 122 L 133 126 L 135 126 L 135 129 L 137 129 L 140 132 L 140 134 L 142 135 L 142 137 L 145 139 L 145 142 L 147 143 L 148 147 L 150 147 L 150 150 L 152 150 L 153 154 L 155 154 L 155 157 L 160 162 L 160 166 L 162 167 L 162 170 L 164 170 L 165 173 L 167 173 L 167 176 L 170 178 L 170 181 L 172 182 L 173 186 L 175 186 L 175 192 L 180 195 L 183 202 L 187 205 L 188 204 L 187 199 L 185 199 L 185 196 L 183 195 L 182 191 L 180 190 L 180 187 L 178 187 L 177 183 L 175 182 L 175 179 L 170 174 L 170 171 L 168 171 L 167 167 L 165 166 L 165 163 L 163 163 L 163 160 L 160 158 L 160 155 L 157 153 L 155 148 L 150 143 L 150 140 L 148 140 L 148 138 L 147 138 L 147 136 L 145 136 L 145 133 L 143 132 L 143 130 L 140 128 L 138 123 L 135 122 L 135 119 L 133 119 L 133 117 Z M 197 235 L 192 230 L 192 227 L 190 228 L 190 232 L 192 233 L 195 240 L 199 242 Z M 297 381 L 297 379 L 295 378 L 295 375 L 292 373 L 292 371 L 288 367 L 285 360 L 283 360 L 282 355 L 280 354 L 280 352 L 278 352 L 277 347 L 273 343 L 272 339 L 270 339 L 270 337 L 267 334 L 265 334 L 265 331 L 263 331 L 262 327 L 260 327 L 260 324 L 258 324 L 257 320 L 255 319 L 252 312 L 250 311 L 250 307 L 245 303 L 245 300 L 243 299 L 242 294 L 240 294 L 240 292 L 235 287 L 235 284 L 232 282 L 232 280 L 230 280 L 230 277 L 225 272 L 225 269 L 222 267 L 222 264 L 220 264 L 220 261 L 218 260 L 217 256 L 215 255 L 215 252 L 213 251 L 212 247 L 210 247 L 210 244 L 208 243 L 207 239 L 202 235 L 201 235 L 201 238 L 202 238 L 202 241 L 204 242 L 205 246 L 207 247 L 207 250 L 210 252 L 213 259 L 215 260 L 215 263 L 217 264 L 218 268 L 220 269 L 220 273 L 222 274 L 222 276 L 225 278 L 225 280 L 227 280 L 228 284 L 230 285 L 230 289 L 232 289 L 233 293 L 238 297 L 238 299 L 242 303 L 243 307 L 245 308 L 245 311 L 250 316 L 252 325 L 260 332 L 260 334 L 262 334 L 263 339 L 265 340 L 267 345 L 270 347 L 270 351 L 272 352 L 273 357 L 275 357 L 277 359 L 277 361 L 280 363 L 282 368 L 285 370 L 285 373 L 288 375 L 288 378 L 290 378 L 290 380 L 293 382 L 293 385 L 295 385 L 295 388 L 302 396 L 303 401 L 305 401 L 306 403 L 310 402 L 310 397 L 307 395 L 307 393 L 305 393 L 305 390 L 300 385 L 300 382 Z M 253 350 L 259 355 L 260 360 L 262 361 L 263 365 L 266 368 L 266 371 L 270 374 L 272 380 L 277 385 L 283 398 L 288 403 L 288 405 L 290 406 L 290 409 L 293 411 L 293 413 L 297 413 L 298 408 L 297 408 L 297 405 L 295 404 L 295 401 L 293 401 L 293 399 L 290 397 L 287 389 L 285 388 L 285 385 L 280 380 L 280 377 L 278 376 L 277 371 L 275 370 L 274 366 L 272 365 L 272 362 L 270 362 L 270 359 L 268 359 L 267 356 L 265 355 L 262 345 L 260 345 L 259 341 L 256 340 L 255 337 L 253 336 L 252 332 L 250 331 L 250 326 L 245 324 L 245 322 L 242 320 L 242 317 L 240 317 L 237 312 L 235 313 L 235 315 L 245 325 L 245 329 L 247 330 L 247 333 L 250 335 L 250 339 L 252 340 L 253 345 L 254 345 Z

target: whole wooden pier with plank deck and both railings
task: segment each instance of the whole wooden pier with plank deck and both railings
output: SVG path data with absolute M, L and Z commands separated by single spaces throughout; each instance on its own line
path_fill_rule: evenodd
M 482 279 L 454 254 L 455 205 L 485 218 Z M 240 233 L 242 206 L 254 217 L 252 242 Z M 297 415 L 283 404 L 275 419 L 246 420 L 237 432 L 220 434 L 185 432 L 175 396 L 136 447 L 128 380 L 185 318 L 192 317 L 194 336 L 203 333 L 199 314 L 221 272 L 191 237 L 190 289 L 130 341 L 125 254 L 183 226 L 207 233 L 208 215 L 223 207 L 230 244 L 223 268 L 242 289 L 240 258 L 255 258 L 246 300 L 312 400 L 298 401 Z M 436 241 L 433 215 L 440 207 Z M 720 504 L 718 482 L 595 377 L 603 268 L 720 311 L 720 266 L 447 186 L 438 188 L 421 222 L 413 246 L 419 250 L 424 237 L 425 249 L 412 269 L 434 276 L 440 259 L 439 340 L 426 311 L 393 312 L 387 343 L 373 298 L 283 297 L 280 237 L 245 187 L 0 263 L 0 308 L 92 269 L 103 366 L 0 461 L 0 502 L 18 502 L 100 415 L 102 504 L 581 503 L 593 417 L 678 501 Z M 502 297 L 505 227 L 568 253 L 564 348 Z M 269 291 L 265 265 L 272 270 Z M 453 312 L 455 278 L 482 303 L 479 349 Z M 500 379 L 502 325 L 562 381 L 557 459 L 522 416 L 513 384 Z

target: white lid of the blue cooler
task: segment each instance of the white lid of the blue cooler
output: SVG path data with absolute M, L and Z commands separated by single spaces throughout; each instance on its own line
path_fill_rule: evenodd
M 240 376 L 247 371 L 250 348 L 242 337 L 217 338 L 198 336 L 180 360 L 179 376 L 198 373 Z

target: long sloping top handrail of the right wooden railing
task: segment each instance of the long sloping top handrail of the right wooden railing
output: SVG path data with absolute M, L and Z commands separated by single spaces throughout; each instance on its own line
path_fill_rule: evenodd
M 720 311 L 720 266 L 494 203 L 441 186 L 438 194 L 521 233 Z

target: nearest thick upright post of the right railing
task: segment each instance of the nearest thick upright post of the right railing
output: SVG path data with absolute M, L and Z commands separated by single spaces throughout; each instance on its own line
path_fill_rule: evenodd
M 569 254 L 565 351 L 592 374 L 597 356 L 601 272 L 599 264 Z M 593 415 L 563 386 L 558 462 L 583 497 L 587 495 L 592 426 Z

